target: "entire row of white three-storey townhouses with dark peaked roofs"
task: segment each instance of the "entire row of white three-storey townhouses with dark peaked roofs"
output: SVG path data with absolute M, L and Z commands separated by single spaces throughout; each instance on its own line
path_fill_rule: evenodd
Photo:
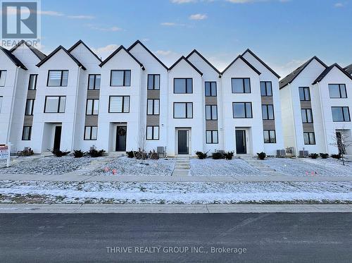
M 279 81 L 249 49 L 220 72 L 196 50 L 168 68 L 139 41 L 104 61 L 81 40 L 48 56 L 23 41 L 0 50 L 0 144 L 336 153 L 331 136 L 351 135 L 351 71 L 314 57 Z

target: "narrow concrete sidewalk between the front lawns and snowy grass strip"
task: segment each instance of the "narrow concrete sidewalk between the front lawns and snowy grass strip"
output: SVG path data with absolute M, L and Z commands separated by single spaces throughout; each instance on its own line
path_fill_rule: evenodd
M 341 182 L 352 176 L 86 176 L 80 173 L 61 175 L 0 173 L 0 181 L 61 181 L 61 182 Z

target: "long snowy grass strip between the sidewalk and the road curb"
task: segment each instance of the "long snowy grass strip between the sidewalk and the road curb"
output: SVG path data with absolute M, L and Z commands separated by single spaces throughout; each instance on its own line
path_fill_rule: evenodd
M 351 203 L 352 182 L 0 182 L 0 202 L 35 200 L 118 204 Z

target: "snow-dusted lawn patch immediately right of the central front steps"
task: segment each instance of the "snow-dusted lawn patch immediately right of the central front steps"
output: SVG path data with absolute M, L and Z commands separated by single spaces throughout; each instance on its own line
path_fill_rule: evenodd
M 191 159 L 192 176 L 262 176 L 258 169 L 253 168 L 241 159 L 214 160 Z

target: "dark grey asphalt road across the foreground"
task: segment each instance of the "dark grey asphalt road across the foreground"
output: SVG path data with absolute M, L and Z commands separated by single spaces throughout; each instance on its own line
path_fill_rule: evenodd
M 347 213 L 0 214 L 1 262 L 331 263 L 351 247 Z

